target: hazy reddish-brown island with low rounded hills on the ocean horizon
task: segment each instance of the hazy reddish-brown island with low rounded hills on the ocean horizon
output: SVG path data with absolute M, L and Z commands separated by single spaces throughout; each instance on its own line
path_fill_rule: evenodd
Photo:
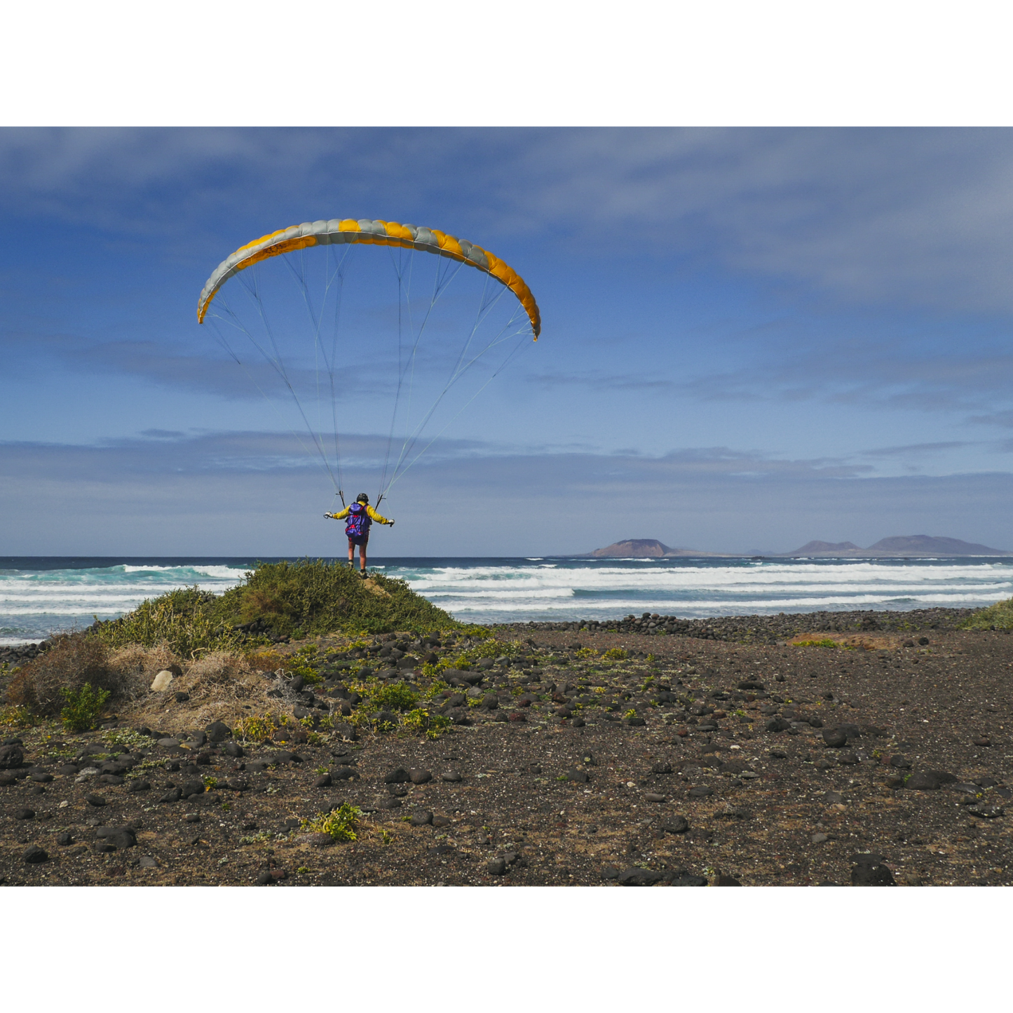
M 592 559 L 672 559 L 678 556 L 731 556 L 766 555 L 772 557 L 823 557 L 848 558 L 869 556 L 1009 556 L 1007 549 L 992 549 L 977 542 L 963 542 L 959 538 L 938 538 L 933 535 L 895 535 L 882 538 L 875 545 L 863 549 L 854 542 L 806 542 L 793 552 L 701 552 L 699 549 L 673 549 L 656 538 L 627 538 L 613 542 L 603 549 L 593 549 L 568 558 Z

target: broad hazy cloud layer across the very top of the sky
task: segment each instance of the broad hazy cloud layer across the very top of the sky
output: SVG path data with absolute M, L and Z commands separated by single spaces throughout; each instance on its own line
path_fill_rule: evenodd
M 1011 165 L 1004 126 L 0 130 L 0 183 L 22 212 L 143 229 L 254 197 L 309 217 L 352 198 L 364 214 L 435 203 L 462 231 L 573 236 L 602 255 L 642 246 L 847 301 L 1003 314 Z

